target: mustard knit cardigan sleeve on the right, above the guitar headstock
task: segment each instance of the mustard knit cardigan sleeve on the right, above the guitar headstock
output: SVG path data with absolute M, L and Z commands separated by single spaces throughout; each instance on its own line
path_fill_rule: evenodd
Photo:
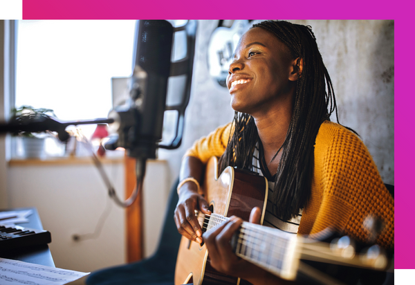
M 343 127 L 329 129 L 320 136 L 328 143 L 319 154 L 322 200 L 311 233 L 334 226 L 355 239 L 369 241 L 376 237 L 365 227 L 367 218 L 376 217 L 385 226 L 377 243 L 393 248 L 394 199 L 383 184 L 374 160 L 351 131 Z

